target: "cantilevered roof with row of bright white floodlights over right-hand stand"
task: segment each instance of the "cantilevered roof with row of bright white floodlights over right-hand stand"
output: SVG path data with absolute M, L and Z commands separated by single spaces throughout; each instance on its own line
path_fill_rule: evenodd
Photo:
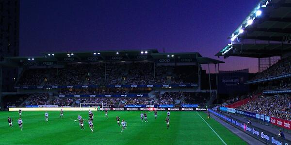
M 290 52 L 291 0 L 260 0 L 228 39 L 232 43 L 216 56 L 263 58 Z

